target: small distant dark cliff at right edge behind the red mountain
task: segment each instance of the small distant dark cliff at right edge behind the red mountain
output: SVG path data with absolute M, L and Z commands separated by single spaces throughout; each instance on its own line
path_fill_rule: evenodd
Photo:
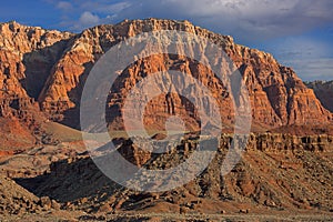
M 305 84 L 310 89 L 313 89 L 323 107 L 333 112 L 333 81 L 314 81 L 306 82 Z

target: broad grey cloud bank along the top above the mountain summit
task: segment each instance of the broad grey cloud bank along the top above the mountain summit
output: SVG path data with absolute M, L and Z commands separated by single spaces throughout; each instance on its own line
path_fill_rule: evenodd
M 123 19 L 189 19 L 216 32 L 244 40 L 297 34 L 333 23 L 331 0 L 75 0 L 77 11 L 90 11 L 112 22 Z M 59 7 L 68 8 L 68 1 Z M 110 22 L 110 21 L 109 21 Z M 245 37 L 246 36 L 246 37 Z

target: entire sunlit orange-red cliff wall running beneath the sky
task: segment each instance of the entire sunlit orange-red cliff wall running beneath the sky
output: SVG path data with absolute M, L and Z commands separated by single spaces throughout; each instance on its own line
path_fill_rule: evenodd
M 125 38 L 159 30 L 188 31 L 221 46 L 248 85 L 254 124 L 264 128 L 317 124 L 329 123 L 332 118 L 294 71 L 281 65 L 271 54 L 236 44 L 229 36 L 213 33 L 188 21 L 123 21 L 115 26 L 94 27 L 80 34 L 48 31 L 16 22 L 2 23 L 0 28 L 0 99 L 34 98 L 51 119 L 71 127 L 79 127 L 81 92 L 98 59 Z M 209 85 L 223 107 L 222 120 L 232 123 L 233 110 L 225 85 L 210 70 L 188 58 L 160 54 L 139 60 L 120 74 L 113 88 L 122 91 L 109 95 L 109 125 L 121 125 L 119 113 L 123 99 L 135 82 L 157 70 L 169 69 L 183 71 Z M 192 95 L 201 100 L 200 93 L 193 92 Z M 176 109 L 170 113 L 170 107 Z M 170 114 L 185 115 L 189 113 L 186 109 L 195 111 L 190 107 L 176 94 L 157 98 L 145 110 L 145 123 L 154 122 L 157 129 L 161 129 Z M 154 115 L 155 109 L 167 110 L 159 120 Z M 195 115 L 183 118 L 189 129 L 196 128 Z

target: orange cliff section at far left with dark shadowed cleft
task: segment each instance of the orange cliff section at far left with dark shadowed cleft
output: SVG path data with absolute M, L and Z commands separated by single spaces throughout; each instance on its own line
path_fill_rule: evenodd
M 38 107 L 34 99 L 71 36 L 14 21 L 0 24 L 1 117 L 19 115 L 29 107 Z

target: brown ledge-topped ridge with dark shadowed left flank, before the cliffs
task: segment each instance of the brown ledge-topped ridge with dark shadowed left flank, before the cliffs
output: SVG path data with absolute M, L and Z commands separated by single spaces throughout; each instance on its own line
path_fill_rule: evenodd
M 231 141 L 231 135 L 221 137 L 214 159 L 198 178 L 160 193 L 135 192 L 118 185 L 84 155 L 53 163 L 50 173 L 19 180 L 18 183 L 38 195 L 48 194 L 67 203 L 69 209 L 84 211 L 102 211 L 107 205 L 108 212 L 134 210 L 159 213 L 181 208 L 188 212 L 216 213 L 234 211 L 234 206 L 240 204 L 253 210 L 279 211 L 315 209 L 327 212 L 333 208 L 330 195 L 332 137 L 251 134 L 240 163 L 228 175 L 221 176 L 221 164 Z M 127 140 L 121 144 L 119 151 L 124 158 L 150 170 L 179 165 L 195 149 L 195 140 L 184 140 L 171 152 L 150 158 L 145 155 L 149 160 L 140 162 L 137 160 L 141 151 Z M 131 152 L 123 153 L 123 147 Z M 145 181 L 147 178 L 142 175 L 140 180 Z

